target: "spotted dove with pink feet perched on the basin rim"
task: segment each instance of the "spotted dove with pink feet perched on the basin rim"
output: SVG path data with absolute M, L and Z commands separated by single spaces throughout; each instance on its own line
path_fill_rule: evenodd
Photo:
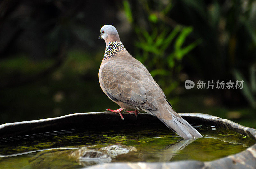
M 106 111 L 119 113 L 122 119 L 123 110 L 135 113 L 136 117 L 139 111 L 144 111 L 157 117 L 184 139 L 203 137 L 172 109 L 147 68 L 125 49 L 114 26 L 104 25 L 98 39 L 104 39 L 106 43 L 98 74 L 100 87 L 109 99 L 120 106 L 120 109 Z M 134 111 L 128 111 L 131 109 Z

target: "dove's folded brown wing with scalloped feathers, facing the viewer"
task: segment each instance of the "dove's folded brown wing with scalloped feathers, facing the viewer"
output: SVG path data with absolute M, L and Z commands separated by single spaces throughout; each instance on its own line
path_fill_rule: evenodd
M 148 101 L 140 75 L 132 64 L 108 61 L 102 65 L 101 80 L 104 90 L 112 100 L 145 109 L 157 109 L 156 103 Z

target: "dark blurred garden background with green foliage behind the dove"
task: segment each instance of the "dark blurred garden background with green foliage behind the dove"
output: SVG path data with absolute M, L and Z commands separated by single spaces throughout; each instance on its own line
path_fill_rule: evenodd
M 97 38 L 107 24 L 178 113 L 256 128 L 256 2 L 249 0 L 2 0 L 0 124 L 118 109 L 98 82 L 105 42 Z M 187 79 L 244 84 L 186 90 Z

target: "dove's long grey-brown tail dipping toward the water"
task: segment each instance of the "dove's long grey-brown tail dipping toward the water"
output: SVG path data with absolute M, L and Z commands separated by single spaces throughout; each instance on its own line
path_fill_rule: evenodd
M 156 116 L 169 129 L 185 139 L 203 137 L 194 127 L 177 114 L 169 104 L 158 104 L 157 110 L 143 109 L 143 111 Z

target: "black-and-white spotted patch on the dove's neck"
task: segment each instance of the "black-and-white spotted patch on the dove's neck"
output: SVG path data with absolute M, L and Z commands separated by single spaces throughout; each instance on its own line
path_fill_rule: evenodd
M 116 56 L 122 50 L 126 51 L 122 42 L 108 42 L 103 60 Z

